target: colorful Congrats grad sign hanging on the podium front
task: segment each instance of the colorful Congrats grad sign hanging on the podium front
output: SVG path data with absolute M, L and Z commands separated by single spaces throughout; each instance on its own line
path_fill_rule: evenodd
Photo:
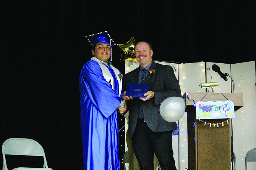
M 196 119 L 235 118 L 235 107 L 232 101 L 198 101 Z

